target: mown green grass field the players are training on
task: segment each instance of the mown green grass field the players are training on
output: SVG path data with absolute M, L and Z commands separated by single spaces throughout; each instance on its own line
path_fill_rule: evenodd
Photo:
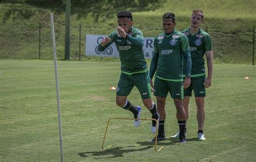
M 196 107 L 190 105 L 187 144 L 170 138 L 178 124 L 169 96 L 167 140 L 156 153 L 150 122 L 134 128 L 132 117 L 115 105 L 119 62 L 58 61 L 65 161 L 254 161 L 256 69 L 252 65 L 215 64 L 206 97 L 206 141 L 197 139 Z M 250 79 L 245 80 L 248 76 Z M 53 60 L 0 59 L 0 161 L 59 161 L 58 115 Z M 129 100 L 142 105 L 137 89 Z M 153 100 L 156 99 L 153 97 Z M 142 118 L 150 118 L 143 107 Z

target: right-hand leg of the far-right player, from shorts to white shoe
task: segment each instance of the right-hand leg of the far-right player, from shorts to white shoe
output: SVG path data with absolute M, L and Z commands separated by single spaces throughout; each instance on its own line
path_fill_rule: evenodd
M 198 138 L 199 140 L 205 140 L 204 137 L 204 121 L 205 121 L 205 102 L 206 90 L 203 85 L 205 81 L 204 77 L 194 79 L 194 96 L 197 104 L 197 121 L 198 121 Z

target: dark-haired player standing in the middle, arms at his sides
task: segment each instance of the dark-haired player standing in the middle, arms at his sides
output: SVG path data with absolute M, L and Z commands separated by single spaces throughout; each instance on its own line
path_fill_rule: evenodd
M 191 57 L 187 37 L 174 29 L 174 13 L 163 16 L 164 33 L 154 39 L 154 55 L 150 65 L 150 79 L 154 79 L 154 95 L 157 98 L 157 110 L 160 114 L 158 140 L 165 140 L 164 122 L 166 118 L 165 102 L 170 92 L 177 110 L 180 143 L 186 143 L 186 114 L 183 107 L 183 89 L 190 86 Z M 185 58 L 186 78 L 183 80 L 183 58 Z M 183 82 L 184 81 L 184 82 Z M 154 141 L 154 139 L 152 139 Z

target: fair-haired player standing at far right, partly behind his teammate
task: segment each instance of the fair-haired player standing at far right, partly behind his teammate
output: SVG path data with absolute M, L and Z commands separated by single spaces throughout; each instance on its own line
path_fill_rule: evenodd
M 206 140 L 204 136 L 204 121 L 205 121 L 205 103 L 204 97 L 205 89 L 212 84 L 212 40 L 209 34 L 200 29 L 201 23 L 203 23 L 204 13 L 201 10 L 194 10 L 191 15 L 190 28 L 181 31 L 184 33 L 190 42 L 190 52 L 192 60 L 191 69 L 191 84 L 190 87 L 184 90 L 184 108 L 186 111 L 186 120 L 188 119 L 188 103 L 190 102 L 190 96 L 192 90 L 194 90 L 194 96 L 197 105 L 197 121 L 198 121 L 198 138 L 199 140 Z M 207 59 L 207 78 L 205 72 L 204 55 Z M 178 137 L 179 132 L 172 137 Z

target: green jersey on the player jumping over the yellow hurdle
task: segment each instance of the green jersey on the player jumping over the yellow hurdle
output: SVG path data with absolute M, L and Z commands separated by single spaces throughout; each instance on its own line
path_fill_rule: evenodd
M 114 42 L 119 52 L 122 73 L 132 75 L 147 72 L 147 62 L 143 53 L 144 38 L 142 31 L 132 27 L 126 34 L 126 38 L 123 38 L 114 30 L 107 36 L 111 41 L 105 46 L 99 44 L 98 50 L 104 51 Z

